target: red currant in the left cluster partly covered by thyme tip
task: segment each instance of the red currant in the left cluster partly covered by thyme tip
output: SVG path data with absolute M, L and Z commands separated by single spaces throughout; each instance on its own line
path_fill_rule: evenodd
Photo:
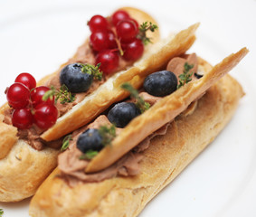
M 45 94 L 45 92 L 47 92 L 48 90 L 51 90 L 50 88 L 46 87 L 46 86 L 39 86 L 35 89 L 33 89 L 30 93 L 30 98 L 33 104 L 33 107 L 37 106 L 38 104 L 45 102 L 47 104 L 54 104 L 54 97 L 52 99 L 47 99 L 46 101 L 43 101 L 43 95 Z

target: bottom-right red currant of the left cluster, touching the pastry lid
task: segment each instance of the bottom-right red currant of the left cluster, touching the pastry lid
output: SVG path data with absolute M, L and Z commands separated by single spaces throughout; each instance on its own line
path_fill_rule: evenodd
M 52 127 L 57 118 L 58 109 L 52 104 L 41 103 L 34 108 L 34 123 L 40 128 L 47 129 Z

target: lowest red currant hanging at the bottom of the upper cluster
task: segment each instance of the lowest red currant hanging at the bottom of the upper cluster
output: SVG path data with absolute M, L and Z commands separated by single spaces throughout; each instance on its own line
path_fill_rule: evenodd
M 119 54 L 110 50 L 99 52 L 96 56 L 96 64 L 100 64 L 100 70 L 106 74 L 114 72 L 119 67 Z

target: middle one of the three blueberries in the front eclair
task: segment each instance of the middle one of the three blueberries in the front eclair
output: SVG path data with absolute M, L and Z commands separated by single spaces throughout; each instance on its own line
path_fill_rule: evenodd
M 134 103 L 120 102 L 109 110 L 108 118 L 116 127 L 123 128 L 138 115 L 140 115 L 140 111 Z

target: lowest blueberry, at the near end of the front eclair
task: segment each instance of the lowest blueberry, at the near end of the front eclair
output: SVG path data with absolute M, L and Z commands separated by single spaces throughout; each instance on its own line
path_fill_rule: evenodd
M 102 138 L 98 129 L 89 128 L 84 131 L 77 141 L 77 148 L 82 153 L 86 153 L 89 150 L 100 151 L 102 149 Z

